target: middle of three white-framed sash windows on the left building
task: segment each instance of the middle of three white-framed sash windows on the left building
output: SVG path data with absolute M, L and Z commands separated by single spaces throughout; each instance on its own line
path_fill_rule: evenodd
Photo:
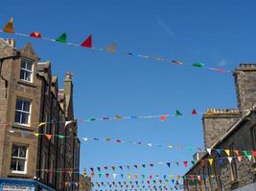
M 16 99 L 15 122 L 20 124 L 30 123 L 31 101 L 27 99 Z

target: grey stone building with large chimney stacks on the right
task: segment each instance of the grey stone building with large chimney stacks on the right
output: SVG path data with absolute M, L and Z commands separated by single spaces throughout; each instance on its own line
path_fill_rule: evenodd
M 205 152 L 184 175 L 184 189 L 256 190 L 256 64 L 235 77 L 238 109 L 209 109 L 202 117 Z

